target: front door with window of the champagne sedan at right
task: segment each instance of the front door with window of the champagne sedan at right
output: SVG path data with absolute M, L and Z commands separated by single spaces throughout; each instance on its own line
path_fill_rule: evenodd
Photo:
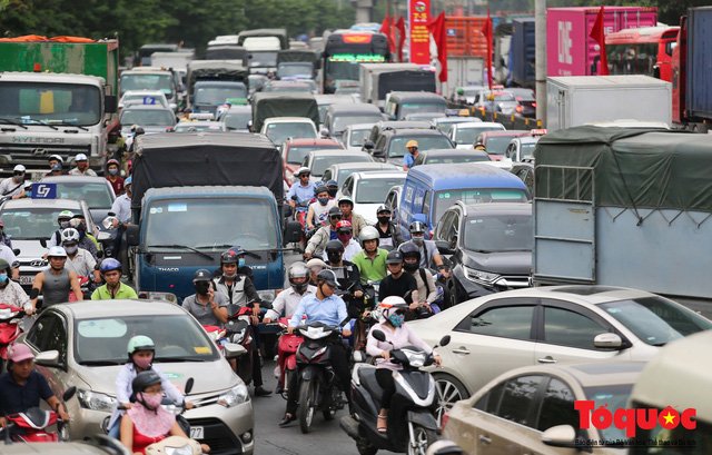
M 599 334 L 615 333 L 625 339 L 601 316 L 565 300 L 544 298 L 541 304 L 536 320 L 536 362 L 630 360 L 630 349 L 596 348 L 593 345 L 593 338 Z

